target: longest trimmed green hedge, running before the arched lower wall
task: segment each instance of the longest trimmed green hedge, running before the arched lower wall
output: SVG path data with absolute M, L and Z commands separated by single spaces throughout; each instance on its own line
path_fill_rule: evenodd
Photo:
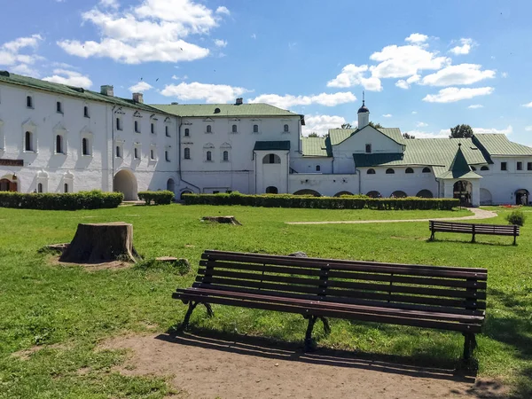
M 313 197 L 311 195 L 263 194 L 184 194 L 185 205 L 243 205 L 246 207 L 308 207 L 316 209 L 440 209 L 451 210 L 459 200 L 408 198 L 373 199 L 361 196 Z

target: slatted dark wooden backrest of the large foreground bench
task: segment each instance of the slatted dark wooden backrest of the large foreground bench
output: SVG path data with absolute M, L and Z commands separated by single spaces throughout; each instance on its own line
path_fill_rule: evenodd
M 194 286 L 481 315 L 488 270 L 205 251 Z

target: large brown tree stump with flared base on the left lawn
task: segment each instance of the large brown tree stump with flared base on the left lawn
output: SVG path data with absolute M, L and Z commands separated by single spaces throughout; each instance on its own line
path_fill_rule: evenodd
M 68 263 L 137 262 L 133 225 L 124 222 L 80 223 L 74 239 L 59 258 Z

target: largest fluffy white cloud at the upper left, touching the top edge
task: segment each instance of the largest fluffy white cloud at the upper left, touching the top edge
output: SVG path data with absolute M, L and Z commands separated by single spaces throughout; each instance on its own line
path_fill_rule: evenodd
M 219 7 L 218 10 L 221 8 Z M 207 57 L 207 48 L 185 41 L 190 35 L 208 35 L 220 16 L 192 0 L 144 0 L 126 11 L 82 13 L 100 32 L 99 41 L 63 40 L 58 45 L 82 58 L 110 58 L 125 64 L 192 61 Z

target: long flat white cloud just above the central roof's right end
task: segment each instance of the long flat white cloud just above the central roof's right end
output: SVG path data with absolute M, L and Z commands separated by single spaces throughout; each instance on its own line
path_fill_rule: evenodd
M 262 94 L 249 100 L 250 103 L 267 103 L 283 109 L 289 109 L 292 106 L 309 106 L 311 104 L 319 104 L 320 106 L 338 106 L 339 104 L 352 103 L 354 101 L 356 101 L 356 97 L 350 91 L 339 91 L 332 94 L 321 93 L 311 96 L 292 96 L 290 94 L 279 96 L 278 94 Z

